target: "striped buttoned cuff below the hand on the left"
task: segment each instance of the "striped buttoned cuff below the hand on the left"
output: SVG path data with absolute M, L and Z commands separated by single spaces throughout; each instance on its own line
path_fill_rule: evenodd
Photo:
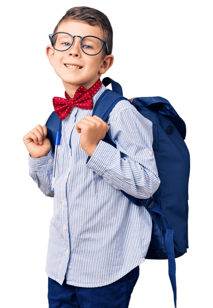
M 29 161 L 29 168 L 32 170 L 49 170 L 53 168 L 54 152 L 52 151 L 52 147 L 47 156 L 45 157 L 33 158 L 29 154 L 28 161 Z

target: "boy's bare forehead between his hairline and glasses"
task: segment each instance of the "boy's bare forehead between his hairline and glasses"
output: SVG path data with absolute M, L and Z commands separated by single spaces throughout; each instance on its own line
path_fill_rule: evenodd
M 79 35 L 81 37 L 92 35 L 97 36 L 99 39 L 103 39 L 102 30 L 98 26 L 91 26 L 88 23 L 74 20 L 65 20 L 61 22 L 57 32 L 67 32 L 72 36 Z

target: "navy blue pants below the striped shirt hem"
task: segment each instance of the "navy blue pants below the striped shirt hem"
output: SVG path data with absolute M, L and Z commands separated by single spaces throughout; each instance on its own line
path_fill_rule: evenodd
M 109 285 L 95 288 L 61 286 L 48 277 L 49 308 L 127 308 L 140 273 L 139 265 Z

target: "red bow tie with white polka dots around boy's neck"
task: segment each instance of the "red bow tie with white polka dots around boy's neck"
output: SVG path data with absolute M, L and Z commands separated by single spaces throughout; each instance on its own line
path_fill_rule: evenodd
M 66 91 L 64 92 L 66 98 L 57 96 L 53 97 L 52 104 L 56 115 L 58 115 L 61 120 L 64 120 L 70 114 L 72 107 L 74 106 L 81 109 L 92 109 L 92 97 L 97 93 L 101 86 L 101 79 L 99 79 L 89 90 L 85 89 L 83 86 L 79 87 L 72 99 L 69 98 Z

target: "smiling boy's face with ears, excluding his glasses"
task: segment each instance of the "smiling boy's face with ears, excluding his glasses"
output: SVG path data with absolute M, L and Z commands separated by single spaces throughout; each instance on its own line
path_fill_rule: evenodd
M 64 21 L 57 32 L 67 32 L 81 37 L 91 35 L 103 39 L 103 33 L 97 26 L 78 21 Z M 105 48 L 105 47 L 103 47 Z M 103 60 L 102 51 L 98 55 L 86 55 L 80 47 L 80 38 L 75 37 L 72 47 L 66 51 L 57 51 L 51 45 L 46 47 L 46 54 L 56 74 L 61 78 L 65 89 L 79 87 L 85 88 L 93 85 L 101 74 L 104 74 L 113 64 L 113 55 L 106 56 Z M 68 65 L 77 65 L 80 69 L 73 69 Z

